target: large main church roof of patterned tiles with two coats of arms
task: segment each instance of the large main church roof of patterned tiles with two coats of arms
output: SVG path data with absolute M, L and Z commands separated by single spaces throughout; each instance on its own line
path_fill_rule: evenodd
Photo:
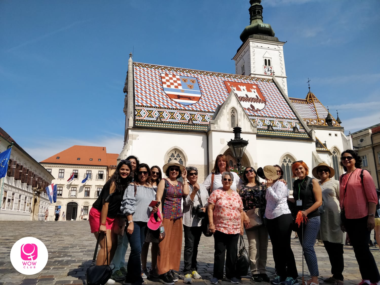
M 258 134 L 310 139 L 272 79 L 135 62 L 133 80 L 136 126 L 206 131 L 232 89 Z

